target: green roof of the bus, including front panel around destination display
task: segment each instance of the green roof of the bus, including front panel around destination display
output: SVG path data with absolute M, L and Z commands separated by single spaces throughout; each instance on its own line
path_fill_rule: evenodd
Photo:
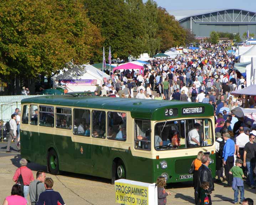
M 137 99 L 137 98 L 112 98 L 112 97 L 97 97 L 86 96 L 76 97 L 70 95 L 51 95 L 39 96 L 22 99 L 22 104 L 35 103 L 47 104 L 56 106 L 68 107 L 83 107 L 107 110 L 121 110 L 131 112 L 133 118 L 149 119 L 149 120 L 165 120 L 178 117 L 188 117 L 186 114 L 181 113 L 182 108 L 196 108 L 204 107 L 202 113 L 194 113 L 189 117 L 196 116 L 213 116 L 213 106 L 207 103 L 190 103 L 180 101 L 159 101 L 150 99 Z M 178 113 L 175 116 L 165 116 L 165 109 L 177 108 Z M 192 113 L 190 113 L 192 114 Z

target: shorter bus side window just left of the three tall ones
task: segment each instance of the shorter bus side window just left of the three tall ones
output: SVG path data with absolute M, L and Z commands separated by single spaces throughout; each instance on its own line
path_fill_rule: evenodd
M 72 110 L 71 108 L 56 108 L 56 128 L 72 128 Z

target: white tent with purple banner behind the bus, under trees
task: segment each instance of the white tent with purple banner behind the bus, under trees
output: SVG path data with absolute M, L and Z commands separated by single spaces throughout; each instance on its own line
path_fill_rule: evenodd
M 102 76 L 103 75 L 103 76 Z M 66 87 L 68 92 L 82 92 L 96 90 L 96 84 L 102 85 L 103 80 L 110 79 L 110 76 L 89 64 L 75 66 L 62 74 L 55 76 L 54 87 L 60 83 Z

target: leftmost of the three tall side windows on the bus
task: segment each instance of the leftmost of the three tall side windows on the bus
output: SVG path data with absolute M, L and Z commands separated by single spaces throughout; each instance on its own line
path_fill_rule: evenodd
M 91 136 L 91 112 L 87 109 L 73 109 L 73 133 L 80 136 Z

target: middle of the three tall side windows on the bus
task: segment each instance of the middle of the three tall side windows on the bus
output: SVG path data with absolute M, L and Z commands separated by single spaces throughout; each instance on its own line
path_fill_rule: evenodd
M 100 110 L 92 111 L 92 136 L 106 138 L 106 112 Z

